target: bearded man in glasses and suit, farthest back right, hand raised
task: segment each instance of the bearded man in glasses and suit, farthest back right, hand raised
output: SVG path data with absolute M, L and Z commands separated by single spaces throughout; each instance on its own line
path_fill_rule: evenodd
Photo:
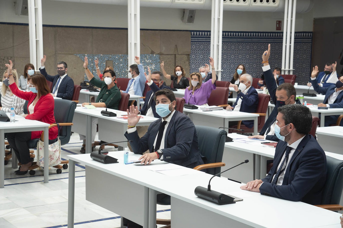
M 335 63 L 327 63 L 324 66 L 324 71 L 320 72 L 318 74 L 318 77 L 316 78 L 316 84 L 318 84 L 321 87 L 328 87 L 330 85 L 335 85 L 337 81 L 337 72 L 336 72 L 336 66 L 337 62 Z M 317 76 L 317 74 L 315 76 Z M 307 83 L 308 86 L 314 86 L 312 79 L 311 82 Z

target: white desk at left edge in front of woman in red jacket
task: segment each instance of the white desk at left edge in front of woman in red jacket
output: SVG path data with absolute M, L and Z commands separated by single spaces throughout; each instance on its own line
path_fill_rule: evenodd
M 7 114 L 7 113 L 6 113 Z M 7 114 L 9 116 L 9 113 Z M 50 124 L 25 119 L 22 116 L 15 115 L 15 123 L 0 122 L 0 188 L 4 187 L 4 156 L 5 156 L 5 139 L 4 134 L 9 132 L 41 131 L 44 134 L 44 157 L 49 157 L 49 126 Z M 12 167 L 17 167 L 15 153 L 12 153 Z M 44 162 L 44 183 L 49 182 L 49 163 Z

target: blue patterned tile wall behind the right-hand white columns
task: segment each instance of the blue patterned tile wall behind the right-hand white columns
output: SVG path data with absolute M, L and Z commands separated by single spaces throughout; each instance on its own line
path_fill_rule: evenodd
M 271 44 L 269 64 L 280 67 L 282 62 L 282 32 L 234 32 L 224 31 L 222 40 L 222 80 L 230 81 L 236 67 L 243 64 L 253 77 L 262 75 L 262 53 Z M 209 64 L 210 31 L 191 31 L 190 71 L 197 72 Z M 296 82 L 305 85 L 311 72 L 312 32 L 296 32 L 294 40 L 293 74 Z

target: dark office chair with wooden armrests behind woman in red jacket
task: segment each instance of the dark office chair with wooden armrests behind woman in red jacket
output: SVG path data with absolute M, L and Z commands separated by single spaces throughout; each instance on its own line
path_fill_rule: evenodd
M 64 99 L 55 99 L 55 108 L 54 108 L 54 116 L 55 116 L 55 121 L 60 125 L 60 141 L 61 145 L 67 144 L 70 140 L 70 135 L 71 135 L 71 126 L 73 125 L 73 117 L 74 117 L 74 112 L 76 108 L 76 103 L 74 101 L 70 100 L 64 100 Z M 51 124 L 50 127 L 56 126 L 56 124 Z M 49 128 L 50 128 L 49 127 Z M 44 134 L 44 132 L 43 132 Z M 43 135 L 42 134 L 42 135 Z M 43 138 L 43 137 L 42 137 Z M 39 139 L 32 139 L 28 141 L 28 147 L 35 149 L 37 147 Z M 54 140 L 49 140 L 49 144 L 52 144 L 56 142 L 56 139 Z M 31 151 L 30 151 L 31 153 Z M 35 157 L 33 153 L 30 154 L 31 159 Z M 64 164 L 63 166 L 61 165 L 56 165 L 53 166 L 57 168 L 56 173 L 60 174 L 62 173 L 62 168 L 67 169 L 69 161 L 61 161 L 61 164 Z M 35 175 L 35 170 L 39 166 L 36 164 L 36 162 L 32 163 L 32 166 L 30 166 L 28 169 L 30 175 Z

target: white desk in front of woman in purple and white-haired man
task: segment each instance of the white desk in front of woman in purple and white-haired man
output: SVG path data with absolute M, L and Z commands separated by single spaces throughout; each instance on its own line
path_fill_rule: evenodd
M 229 127 L 229 121 L 253 120 L 254 121 L 254 135 L 257 135 L 257 118 L 258 114 L 247 112 L 236 112 L 226 110 L 214 110 L 211 112 L 204 112 L 200 109 L 186 109 L 184 113 L 193 121 L 194 125 L 203 125 L 209 127 Z M 225 129 L 224 129 L 225 130 Z M 226 130 L 227 131 L 227 130 Z

